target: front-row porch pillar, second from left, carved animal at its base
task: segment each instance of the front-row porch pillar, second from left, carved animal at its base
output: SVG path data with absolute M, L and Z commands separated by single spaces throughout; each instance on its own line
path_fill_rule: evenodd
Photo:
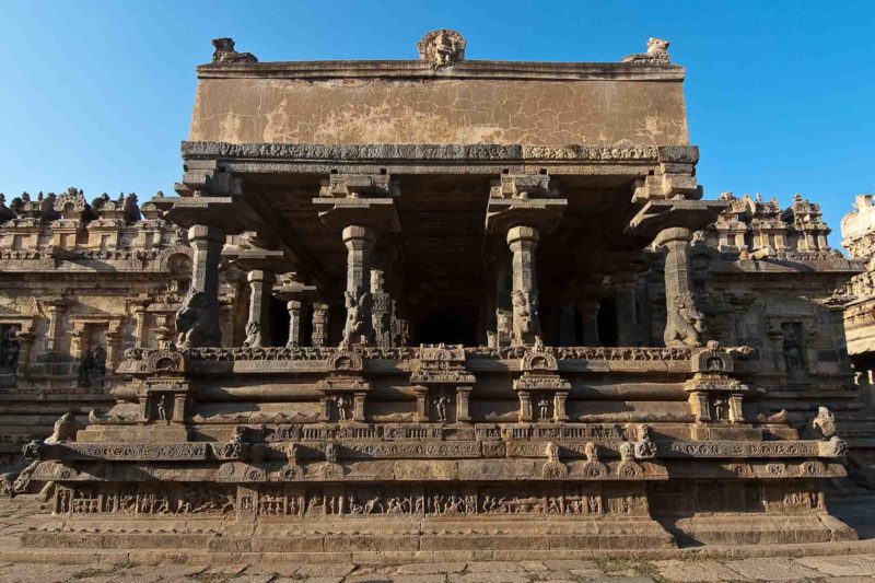
M 343 229 L 347 246 L 347 324 L 343 341 L 370 345 L 374 341 L 371 295 L 371 254 L 376 237 L 370 226 L 350 225 Z

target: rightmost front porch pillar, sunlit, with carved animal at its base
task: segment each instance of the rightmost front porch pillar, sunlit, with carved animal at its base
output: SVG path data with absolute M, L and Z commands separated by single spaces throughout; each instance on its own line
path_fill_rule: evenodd
M 654 240 L 665 255 L 665 346 L 701 346 L 702 315 L 690 292 L 688 248 L 692 240 L 689 229 L 672 228 Z

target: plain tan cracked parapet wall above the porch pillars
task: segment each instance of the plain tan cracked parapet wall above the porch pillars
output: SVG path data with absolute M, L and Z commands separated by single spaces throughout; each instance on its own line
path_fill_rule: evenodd
M 224 78 L 210 69 L 198 83 L 189 140 L 687 144 L 682 69 L 672 73 L 673 79 L 644 81 L 615 74 L 520 80 L 442 78 L 411 69 L 411 78 L 385 79 L 363 70 L 301 79 L 292 69 L 280 79 L 252 79 Z

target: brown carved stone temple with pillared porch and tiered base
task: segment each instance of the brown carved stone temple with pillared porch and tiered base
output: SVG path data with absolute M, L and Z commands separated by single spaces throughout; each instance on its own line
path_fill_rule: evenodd
M 0 207 L 3 487 L 54 508 L 27 545 L 856 538 L 824 491 L 873 434 L 843 331 L 863 267 L 817 205 L 703 196 L 666 42 L 465 44 L 258 62 L 217 39 L 178 197 Z

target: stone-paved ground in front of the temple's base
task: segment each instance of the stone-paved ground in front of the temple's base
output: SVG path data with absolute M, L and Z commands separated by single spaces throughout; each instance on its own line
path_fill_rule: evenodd
M 18 535 L 26 528 L 27 518 L 39 511 L 35 500 L 0 501 L 0 558 L 14 549 Z M 875 499 L 858 499 L 833 506 L 845 522 L 853 523 L 863 535 L 875 535 Z M 311 581 L 363 583 L 552 583 L 609 581 L 693 582 L 693 581 L 817 581 L 875 582 L 875 552 L 841 555 L 820 547 L 822 556 L 722 558 L 689 556 L 672 560 L 645 560 L 635 557 L 596 560 L 415 563 L 392 567 L 369 567 L 353 563 L 327 564 L 137 564 L 50 562 L 3 562 L 0 559 L 0 582 L 94 582 L 152 583 L 183 581 L 191 583 L 267 583 Z M 833 549 L 835 550 L 835 549 Z M 796 552 L 798 555 L 798 552 Z

